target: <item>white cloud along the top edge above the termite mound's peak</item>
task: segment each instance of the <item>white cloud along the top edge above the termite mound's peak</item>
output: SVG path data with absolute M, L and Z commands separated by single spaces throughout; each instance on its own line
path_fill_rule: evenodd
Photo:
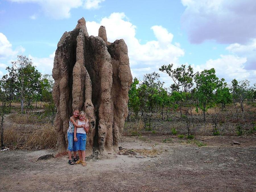
M 69 18 L 70 10 L 78 7 L 86 9 L 99 8 L 99 4 L 104 0 L 9 0 L 17 3 L 36 3 L 40 5 L 47 16 L 55 19 Z M 31 16 L 32 19 L 35 16 Z

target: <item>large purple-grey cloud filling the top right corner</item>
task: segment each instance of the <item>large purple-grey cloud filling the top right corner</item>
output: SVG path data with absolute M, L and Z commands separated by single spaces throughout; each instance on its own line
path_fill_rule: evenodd
M 181 22 L 192 43 L 245 43 L 255 38 L 255 0 L 181 0 Z

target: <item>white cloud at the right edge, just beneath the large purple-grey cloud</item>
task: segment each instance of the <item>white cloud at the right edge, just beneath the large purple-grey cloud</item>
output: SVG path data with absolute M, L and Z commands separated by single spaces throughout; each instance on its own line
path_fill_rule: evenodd
M 256 70 L 256 38 L 244 45 L 238 43 L 231 44 L 226 49 L 233 54 L 247 58 L 245 69 Z

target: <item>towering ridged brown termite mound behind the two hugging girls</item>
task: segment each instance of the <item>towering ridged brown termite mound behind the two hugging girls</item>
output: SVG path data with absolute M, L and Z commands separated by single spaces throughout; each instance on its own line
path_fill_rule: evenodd
M 108 42 L 104 26 L 98 35 L 89 36 L 81 18 L 57 45 L 52 73 L 58 152 L 67 150 L 69 117 L 77 107 L 85 111 L 90 123 L 86 156 L 93 148 L 101 154 L 118 150 L 132 82 L 128 50 L 123 39 Z

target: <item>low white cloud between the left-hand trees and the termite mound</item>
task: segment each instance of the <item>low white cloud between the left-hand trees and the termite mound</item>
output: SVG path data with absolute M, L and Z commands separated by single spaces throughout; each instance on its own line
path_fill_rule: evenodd
M 32 59 L 33 64 L 36 66 L 36 69 L 42 74 L 51 74 L 53 69 L 55 51 L 49 55 L 49 57 L 38 58 L 28 55 L 29 59 Z

